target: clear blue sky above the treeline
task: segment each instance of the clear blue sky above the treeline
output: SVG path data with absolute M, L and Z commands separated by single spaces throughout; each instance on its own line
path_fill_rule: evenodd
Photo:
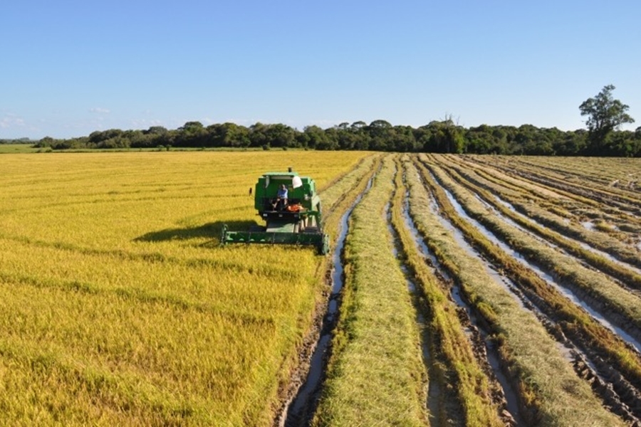
M 638 0 L 6 0 L 0 139 L 236 122 L 299 130 L 641 125 Z

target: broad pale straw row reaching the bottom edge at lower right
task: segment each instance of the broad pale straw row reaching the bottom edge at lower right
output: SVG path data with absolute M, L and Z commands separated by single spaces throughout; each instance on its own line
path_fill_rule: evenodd
M 412 192 L 417 191 L 417 194 L 420 194 L 426 189 L 434 190 L 423 176 L 418 176 L 412 181 L 415 182 L 415 190 Z M 417 185 L 416 182 L 420 184 Z M 429 206 L 431 214 L 428 214 L 425 206 Z M 452 295 L 457 299 L 466 300 L 474 317 L 489 331 L 490 335 L 486 341 L 489 342 L 489 348 L 494 347 L 494 352 L 499 354 L 501 370 L 509 379 L 511 390 L 514 391 L 512 395 L 516 396 L 518 401 L 518 415 L 523 418 L 523 423 L 519 422 L 519 425 L 582 425 L 584 421 L 580 420 L 589 419 L 590 422 L 594 422 L 596 418 L 604 416 L 599 404 L 588 404 L 591 400 L 585 397 L 586 391 L 580 391 L 584 386 L 576 384 L 572 391 L 565 388 L 571 382 L 578 381 L 570 366 L 569 352 L 559 347 L 560 344 L 553 343 L 545 329 L 548 326 L 540 326 L 541 329 L 538 330 L 533 325 L 532 320 L 536 322 L 536 318 L 540 316 L 538 310 L 533 309 L 527 299 L 523 298 L 522 292 L 518 292 L 514 284 L 497 274 L 496 270 L 494 275 L 487 273 L 487 270 L 491 270 L 490 264 L 475 248 L 467 244 L 463 234 L 449 222 L 447 216 L 442 216 L 443 212 L 432 201 L 412 196 L 411 209 L 412 217 L 419 221 L 419 231 L 425 243 L 434 251 L 439 263 L 443 263 L 444 268 L 452 275 L 454 283 L 458 285 L 458 289 L 453 288 Z M 430 217 L 434 219 L 429 219 Z M 456 247 L 454 243 L 447 243 L 446 237 L 441 237 L 446 235 L 445 230 L 456 238 Z M 467 258 L 474 259 L 474 263 Z M 529 316 L 533 317 L 529 317 L 526 314 L 528 312 Z M 536 354 L 541 356 L 535 356 Z M 563 357 L 568 361 L 566 368 L 562 367 Z M 549 366 L 546 364 L 548 361 L 551 363 Z M 548 381 L 552 378 L 555 381 L 563 381 L 566 386 L 554 386 L 555 381 Z M 539 382 L 541 380 L 543 383 Z M 538 385 L 535 389 L 530 389 L 531 384 Z M 504 389 L 508 388 L 504 386 Z M 558 404 L 563 407 L 559 407 Z M 583 407 L 578 409 L 579 406 Z M 566 408 L 577 408 L 578 411 L 566 412 Z M 612 420 L 602 420 L 600 423 L 615 424 Z

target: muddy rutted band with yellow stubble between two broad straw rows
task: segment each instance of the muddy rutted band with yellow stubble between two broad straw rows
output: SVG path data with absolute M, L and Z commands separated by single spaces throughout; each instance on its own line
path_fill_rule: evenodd
M 451 344 L 448 344 L 447 341 L 454 339 L 454 337 L 444 337 L 450 332 L 446 328 L 439 327 L 442 324 L 435 320 L 435 318 L 441 317 L 444 312 L 447 312 L 449 305 L 456 307 L 455 314 L 452 313 L 452 318 L 455 318 L 454 324 L 458 332 L 463 332 L 459 335 L 459 339 L 464 339 L 464 342 L 459 342 L 458 345 L 468 349 L 469 357 L 474 359 L 474 362 L 470 361 L 471 365 L 483 371 L 486 381 L 488 381 L 486 386 L 488 400 L 485 405 L 488 406 L 489 411 L 494 412 L 494 415 L 501 419 L 501 423 L 505 426 L 517 425 L 522 420 L 519 414 L 516 394 L 501 370 L 499 354 L 496 352 L 496 346 L 489 339 L 489 332 L 484 330 L 484 325 L 481 322 L 477 322 L 467 302 L 460 297 L 459 286 L 449 278 L 447 270 L 443 268 L 434 253 L 429 251 L 429 248 L 424 244 L 410 216 L 410 193 L 407 190 L 407 182 L 405 180 L 406 172 L 407 165 L 404 165 L 402 167 L 402 179 L 397 179 L 397 195 L 393 200 L 393 212 L 390 211 L 388 218 L 390 232 L 395 239 L 398 258 L 407 277 L 408 288 L 417 309 L 419 322 L 424 327 L 429 327 L 429 329 L 424 330 L 424 342 L 428 347 L 427 355 L 430 357 L 427 360 L 428 372 L 430 373 L 428 407 L 432 420 L 440 421 L 439 423 L 433 422 L 432 425 L 452 425 L 452 421 L 457 419 L 452 410 L 455 410 L 457 406 L 466 407 L 466 404 L 462 402 L 462 400 L 466 399 L 466 394 L 461 390 L 465 389 L 467 384 L 459 384 L 457 386 L 457 381 L 465 381 L 468 376 L 461 376 L 460 374 L 457 376 L 457 369 L 453 367 L 454 364 L 463 363 L 464 359 L 454 360 L 448 358 L 448 352 L 441 347 L 449 347 Z M 400 233 L 403 234 L 405 240 L 400 236 Z M 415 257 L 414 263 L 411 262 L 412 256 Z M 427 276 L 429 280 L 426 279 L 426 273 L 429 274 Z M 437 295 L 447 295 L 449 302 L 445 305 L 440 304 Z M 449 356 L 451 357 L 451 354 Z M 447 367 L 447 370 L 443 371 L 445 367 Z M 449 371 L 449 374 L 447 371 Z M 435 373 L 439 373 L 439 375 L 434 376 Z M 479 389 L 479 384 L 470 385 L 476 389 L 476 394 L 481 393 L 482 389 Z M 458 397 L 450 396 L 452 395 L 453 386 L 454 389 L 458 389 Z M 439 400 L 442 401 L 445 396 L 450 396 L 449 399 L 452 399 L 452 402 L 439 404 Z M 470 406 L 470 404 L 468 403 L 467 406 Z M 462 411 L 463 415 L 466 413 L 465 410 Z M 491 419 L 496 420 L 496 418 Z M 469 425 L 479 420 L 475 420 L 468 414 L 467 419 L 462 421 L 465 425 Z M 485 421 L 485 423 L 489 422 Z

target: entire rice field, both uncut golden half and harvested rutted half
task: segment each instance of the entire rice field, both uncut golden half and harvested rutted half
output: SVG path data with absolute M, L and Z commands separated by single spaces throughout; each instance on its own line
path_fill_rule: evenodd
M 330 257 L 219 246 L 224 223 L 259 219 L 256 178 L 288 166 L 316 180 L 331 238 L 352 213 L 331 325 Z M 639 159 L 43 153 L 0 170 L 0 424 L 641 425 Z M 286 419 L 329 327 L 318 399 Z

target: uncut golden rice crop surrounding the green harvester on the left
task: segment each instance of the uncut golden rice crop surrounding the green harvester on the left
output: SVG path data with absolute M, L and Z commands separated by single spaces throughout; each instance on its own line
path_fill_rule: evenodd
M 321 292 L 312 249 L 218 246 L 249 188 L 320 188 L 358 152 L 0 157 L 0 411 L 9 424 L 264 425 Z M 330 206 L 331 201 L 325 201 Z

